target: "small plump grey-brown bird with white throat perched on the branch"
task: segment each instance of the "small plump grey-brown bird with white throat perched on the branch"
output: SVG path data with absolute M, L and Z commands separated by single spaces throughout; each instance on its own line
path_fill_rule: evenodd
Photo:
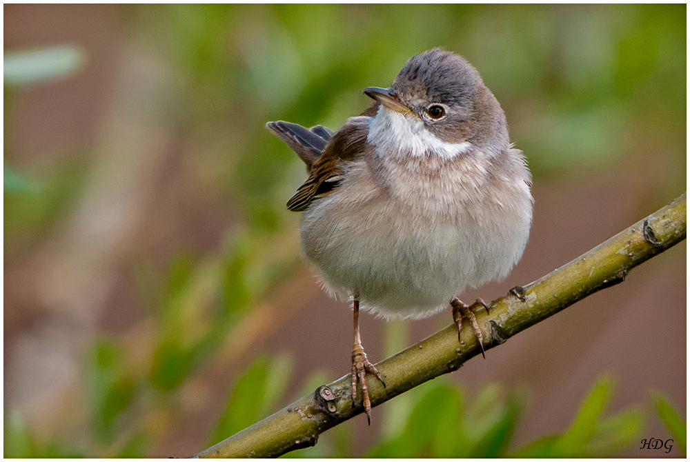
M 326 291 L 352 299 L 351 393 L 371 423 L 366 372 L 385 386 L 359 337 L 359 310 L 386 319 L 453 310 L 458 337 L 473 310 L 457 296 L 504 279 L 532 222 L 531 174 L 509 141 L 505 114 L 479 72 L 440 48 L 411 57 L 390 88 L 365 88 L 373 106 L 337 132 L 269 122 L 306 164 L 288 201 L 302 212 L 306 259 Z M 487 308 L 488 309 L 488 308 Z

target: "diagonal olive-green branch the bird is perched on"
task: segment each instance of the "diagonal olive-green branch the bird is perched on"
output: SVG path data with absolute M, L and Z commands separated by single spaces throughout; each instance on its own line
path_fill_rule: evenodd
M 477 314 L 484 348 L 506 339 L 598 290 L 625 280 L 640 263 L 676 245 L 686 235 L 685 194 L 638 221 L 586 254 L 491 303 Z M 372 405 L 379 405 L 441 374 L 453 372 L 480 352 L 471 329 L 451 325 L 428 339 L 377 364 L 386 388 L 370 380 Z M 362 412 L 361 396 L 353 406 L 350 376 L 322 385 L 313 394 L 217 443 L 198 457 L 275 457 L 316 444 L 319 434 Z

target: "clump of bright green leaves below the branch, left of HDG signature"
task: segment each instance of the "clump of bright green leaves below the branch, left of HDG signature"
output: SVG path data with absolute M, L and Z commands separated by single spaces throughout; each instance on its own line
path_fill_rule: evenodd
M 509 451 L 515 425 L 524 410 L 524 393 L 502 396 L 489 385 L 475 401 L 445 381 L 415 390 L 416 403 L 399 436 L 376 445 L 372 457 L 602 457 L 630 448 L 642 427 L 639 410 L 600 419 L 611 383 L 600 379 L 580 406 L 571 428 Z

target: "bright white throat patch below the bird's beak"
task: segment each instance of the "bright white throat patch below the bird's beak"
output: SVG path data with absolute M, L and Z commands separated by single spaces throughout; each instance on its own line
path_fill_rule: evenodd
M 473 148 L 469 141 L 442 141 L 428 132 L 418 117 L 409 117 L 384 106 L 371 121 L 366 139 L 382 157 L 424 157 L 433 152 L 440 159 L 451 160 Z

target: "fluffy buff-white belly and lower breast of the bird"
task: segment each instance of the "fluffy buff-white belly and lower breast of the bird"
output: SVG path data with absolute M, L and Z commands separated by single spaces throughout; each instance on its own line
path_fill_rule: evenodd
M 361 178 L 360 178 L 361 180 Z M 357 297 L 386 318 L 426 317 L 446 308 L 467 286 L 502 279 L 522 255 L 531 223 L 515 204 L 463 205 L 453 191 L 419 207 L 393 201 L 359 181 L 312 203 L 302 216 L 302 248 L 326 289 Z M 419 199 L 419 198 L 417 198 Z

